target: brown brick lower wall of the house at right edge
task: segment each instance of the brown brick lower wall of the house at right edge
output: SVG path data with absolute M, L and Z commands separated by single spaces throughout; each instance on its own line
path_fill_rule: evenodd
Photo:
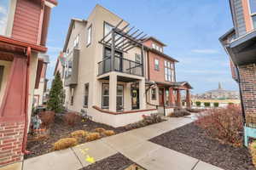
M 242 65 L 239 71 L 245 112 L 256 114 L 256 64 Z

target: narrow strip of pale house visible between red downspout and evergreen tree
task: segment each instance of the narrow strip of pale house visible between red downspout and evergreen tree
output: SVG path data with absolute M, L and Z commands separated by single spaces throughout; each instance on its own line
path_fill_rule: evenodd
M 34 91 L 34 100 L 33 100 L 33 106 L 43 106 L 44 105 L 44 93 L 47 89 L 47 83 L 48 79 L 46 78 L 46 71 L 47 71 L 47 65 L 49 64 L 49 56 L 43 55 L 38 56 L 38 63 L 43 62 L 42 65 L 42 71 L 38 72 L 37 79 L 39 79 L 38 82 L 36 82 L 35 85 L 35 91 Z

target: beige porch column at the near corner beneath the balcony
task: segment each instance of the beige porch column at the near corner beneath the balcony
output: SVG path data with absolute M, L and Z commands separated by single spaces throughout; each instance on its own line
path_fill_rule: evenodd
M 117 75 L 113 72 L 109 76 L 109 111 L 116 112 Z

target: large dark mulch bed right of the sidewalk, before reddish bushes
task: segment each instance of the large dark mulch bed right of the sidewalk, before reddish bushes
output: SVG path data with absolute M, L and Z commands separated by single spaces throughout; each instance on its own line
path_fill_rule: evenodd
M 254 170 L 246 148 L 220 144 L 218 140 L 208 138 L 195 123 L 161 134 L 150 141 L 226 170 Z

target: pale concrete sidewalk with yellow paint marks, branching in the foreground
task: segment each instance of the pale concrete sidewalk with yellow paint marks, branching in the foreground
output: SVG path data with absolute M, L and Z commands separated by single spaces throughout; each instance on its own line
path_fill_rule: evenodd
M 206 162 L 149 142 L 162 133 L 193 122 L 190 118 L 169 118 L 166 122 L 131 130 L 126 133 L 80 144 L 67 150 L 54 151 L 27 159 L 23 170 L 77 170 L 121 153 L 148 170 L 221 170 Z

